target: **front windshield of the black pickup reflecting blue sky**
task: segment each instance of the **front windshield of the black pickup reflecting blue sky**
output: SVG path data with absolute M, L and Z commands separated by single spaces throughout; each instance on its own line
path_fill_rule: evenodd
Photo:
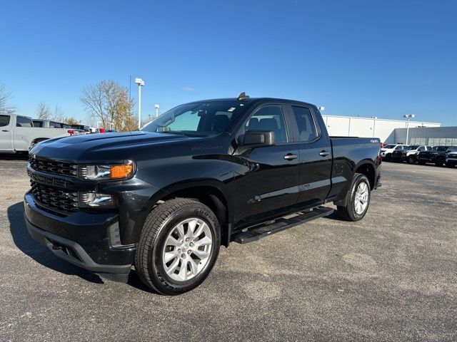
M 239 101 L 187 103 L 168 110 L 141 130 L 206 137 L 225 132 L 244 110 L 244 104 Z

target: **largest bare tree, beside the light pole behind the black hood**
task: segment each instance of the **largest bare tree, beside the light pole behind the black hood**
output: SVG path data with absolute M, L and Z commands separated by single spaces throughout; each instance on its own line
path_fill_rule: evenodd
M 104 128 L 115 130 L 131 130 L 134 120 L 131 110 L 134 101 L 129 99 L 126 87 L 114 81 L 101 81 L 95 85 L 84 88 L 81 102 L 86 105 L 86 110 Z

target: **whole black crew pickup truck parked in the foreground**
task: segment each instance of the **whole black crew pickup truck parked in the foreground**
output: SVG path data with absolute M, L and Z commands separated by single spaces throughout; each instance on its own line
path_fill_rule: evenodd
M 362 219 L 380 185 L 379 151 L 376 138 L 329 138 L 309 103 L 187 103 L 141 131 L 33 147 L 26 226 L 84 269 L 126 281 L 133 265 L 151 289 L 181 294 L 204 281 L 220 245 L 331 214 L 327 202 Z

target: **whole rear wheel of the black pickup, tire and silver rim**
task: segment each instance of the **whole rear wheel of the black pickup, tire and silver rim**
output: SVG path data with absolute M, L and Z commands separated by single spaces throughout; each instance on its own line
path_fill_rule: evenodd
M 338 214 L 346 221 L 360 221 L 368 210 L 370 198 L 371 188 L 368 178 L 366 175 L 356 173 L 346 195 L 346 207 L 338 205 Z

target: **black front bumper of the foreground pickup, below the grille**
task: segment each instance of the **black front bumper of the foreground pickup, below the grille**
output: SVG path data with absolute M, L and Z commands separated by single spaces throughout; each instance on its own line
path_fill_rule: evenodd
M 105 278 L 127 281 L 136 249 L 134 245 L 113 246 L 119 234 L 116 213 L 57 216 L 37 206 L 29 192 L 24 197 L 24 209 L 31 236 L 57 257 Z

